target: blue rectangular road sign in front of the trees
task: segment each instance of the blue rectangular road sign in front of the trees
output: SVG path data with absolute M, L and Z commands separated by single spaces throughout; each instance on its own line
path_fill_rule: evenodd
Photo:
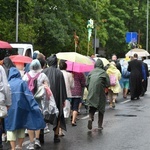
M 134 42 L 137 43 L 138 34 L 137 32 L 126 33 L 126 43 Z

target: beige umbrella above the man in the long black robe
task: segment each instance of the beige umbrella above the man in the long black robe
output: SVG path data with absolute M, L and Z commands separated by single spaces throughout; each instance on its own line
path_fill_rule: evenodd
M 144 49 L 134 48 L 134 49 L 131 49 L 128 53 L 126 53 L 126 56 L 133 56 L 135 53 L 138 54 L 139 57 L 147 57 L 150 55 Z

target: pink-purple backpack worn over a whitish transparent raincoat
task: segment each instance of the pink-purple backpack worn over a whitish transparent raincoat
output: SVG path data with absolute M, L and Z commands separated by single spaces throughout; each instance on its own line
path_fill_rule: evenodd
M 39 77 L 41 73 L 38 73 L 35 77 L 31 77 L 29 73 L 27 73 L 27 76 L 29 78 L 28 80 L 28 88 L 34 95 L 37 91 L 37 78 Z

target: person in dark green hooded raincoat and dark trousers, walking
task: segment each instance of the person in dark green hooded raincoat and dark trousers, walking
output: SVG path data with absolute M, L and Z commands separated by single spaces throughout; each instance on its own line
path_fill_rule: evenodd
M 86 79 L 88 89 L 87 105 L 89 106 L 88 129 L 92 129 L 94 114 L 98 110 L 98 128 L 103 129 L 103 118 L 106 104 L 105 88 L 110 84 L 109 77 L 104 70 L 103 62 L 98 59 Z

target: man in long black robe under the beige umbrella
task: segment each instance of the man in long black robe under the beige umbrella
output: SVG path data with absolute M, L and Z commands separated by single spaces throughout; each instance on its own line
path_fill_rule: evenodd
M 131 100 L 140 99 L 142 93 L 142 61 L 138 60 L 138 55 L 134 54 L 129 61 L 128 71 L 131 72 L 129 78 Z

